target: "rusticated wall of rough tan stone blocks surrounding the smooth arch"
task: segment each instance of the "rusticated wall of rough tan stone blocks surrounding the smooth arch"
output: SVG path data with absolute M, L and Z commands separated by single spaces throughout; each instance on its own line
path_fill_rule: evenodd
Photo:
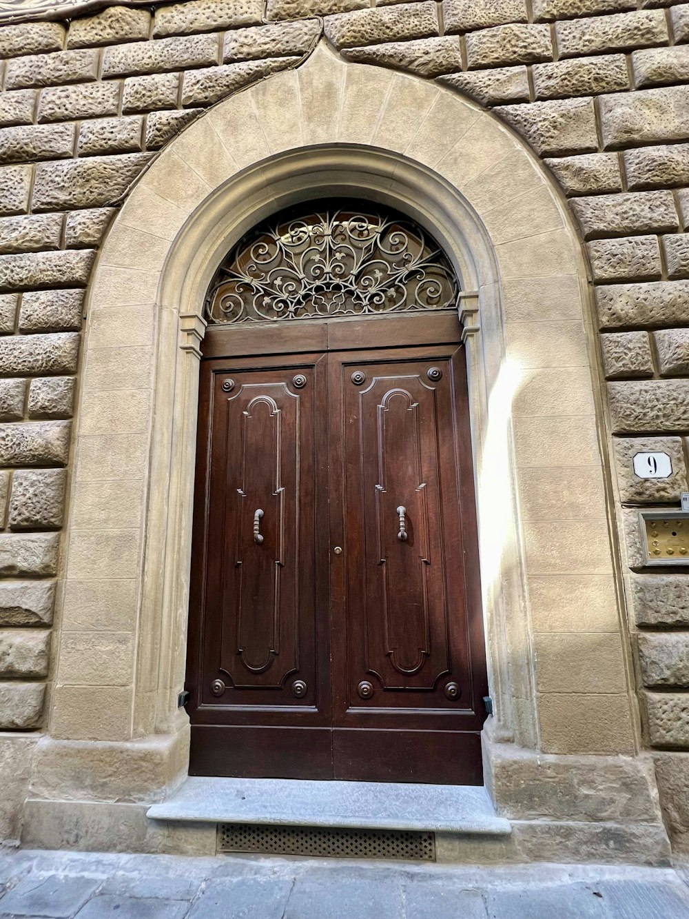
M 689 582 L 679 568 L 644 569 L 634 510 L 676 506 L 687 489 L 689 3 L 672 0 L 191 0 L 0 28 L 0 729 L 40 727 L 45 688 L 61 681 L 49 640 L 69 419 L 83 294 L 107 224 L 176 132 L 298 66 L 323 35 L 347 60 L 492 108 L 570 199 L 595 282 L 644 732 L 680 832 L 689 766 L 661 751 L 689 749 Z M 126 334 L 117 322 L 92 333 L 102 347 Z M 85 373 L 104 399 L 126 389 L 114 369 Z M 670 453 L 672 478 L 636 478 L 639 449 Z M 118 483 L 82 472 L 70 515 L 96 527 L 97 502 L 118 500 Z M 61 641 L 81 628 L 66 603 Z M 104 628 L 90 646 L 119 685 L 122 641 Z

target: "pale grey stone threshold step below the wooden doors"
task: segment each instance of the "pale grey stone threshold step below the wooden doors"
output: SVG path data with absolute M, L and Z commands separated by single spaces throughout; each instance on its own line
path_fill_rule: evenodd
M 152 820 L 509 835 L 474 785 L 194 777 L 147 811 Z

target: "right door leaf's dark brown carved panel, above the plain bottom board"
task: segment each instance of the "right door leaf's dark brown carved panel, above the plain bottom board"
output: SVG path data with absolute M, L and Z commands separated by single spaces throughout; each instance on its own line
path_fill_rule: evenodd
M 469 646 L 469 618 L 480 616 L 473 496 L 459 491 L 472 477 L 469 426 L 457 425 L 463 349 L 331 357 L 342 406 L 331 417 L 343 419 L 331 442 L 342 444 L 344 471 L 334 528 L 338 516 L 346 528 L 346 583 L 333 590 L 334 723 L 480 730 L 483 654 L 480 641 Z M 439 380 L 429 379 L 436 370 Z

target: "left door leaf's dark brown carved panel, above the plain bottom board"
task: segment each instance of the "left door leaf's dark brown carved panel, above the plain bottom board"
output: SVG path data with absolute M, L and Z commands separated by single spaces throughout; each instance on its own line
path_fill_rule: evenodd
M 327 584 L 316 566 L 327 539 L 322 360 L 202 365 L 192 723 L 330 723 Z

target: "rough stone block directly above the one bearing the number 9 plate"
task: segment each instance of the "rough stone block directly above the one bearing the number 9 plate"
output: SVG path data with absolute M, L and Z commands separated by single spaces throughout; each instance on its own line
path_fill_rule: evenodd
M 628 380 L 607 384 L 615 434 L 689 430 L 689 380 Z

